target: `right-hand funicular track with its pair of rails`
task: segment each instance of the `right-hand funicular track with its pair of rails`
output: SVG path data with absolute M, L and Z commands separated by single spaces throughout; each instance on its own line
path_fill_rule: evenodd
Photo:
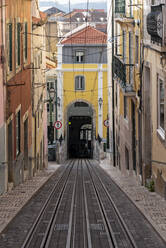
M 94 188 L 97 202 L 102 213 L 103 225 L 106 231 L 109 247 L 137 248 L 137 245 L 116 208 L 101 178 L 97 175 L 89 160 L 85 160 L 89 177 Z

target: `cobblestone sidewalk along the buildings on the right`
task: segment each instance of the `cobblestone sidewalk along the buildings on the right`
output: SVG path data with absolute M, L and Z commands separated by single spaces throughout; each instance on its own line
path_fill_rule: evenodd
M 135 176 L 122 175 L 121 171 L 113 167 L 108 159 L 102 160 L 100 166 L 128 195 L 166 241 L 166 200 L 155 192 L 149 192 Z

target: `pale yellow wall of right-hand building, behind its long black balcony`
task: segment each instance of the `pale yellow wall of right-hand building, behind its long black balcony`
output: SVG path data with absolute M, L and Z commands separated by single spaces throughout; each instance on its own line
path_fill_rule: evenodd
M 125 15 L 115 17 L 115 57 L 125 71 L 125 81 L 116 75 L 114 79 L 118 104 L 115 106 L 116 144 L 118 146 L 116 161 L 122 171 L 135 171 L 141 174 L 140 170 L 140 133 L 139 133 L 139 107 L 140 107 L 140 72 L 141 72 L 141 49 L 142 40 L 142 1 L 132 7 L 126 2 Z M 114 62 L 113 62 L 114 63 Z M 117 66 L 117 65 L 116 65 Z M 117 68 L 118 71 L 118 68 Z M 120 69 L 119 69 L 120 71 Z M 122 71 L 121 71 L 122 72 Z M 117 72 L 118 74 L 118 72 Z

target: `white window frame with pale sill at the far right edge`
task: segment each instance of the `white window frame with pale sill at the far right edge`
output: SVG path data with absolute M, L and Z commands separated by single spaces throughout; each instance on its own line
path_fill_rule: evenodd
M 160 91 L 160 84 L 163 84 L 163 88 L 164 88 L 164 99 L 163 99 L 163 105 L 164 105 L 164 119 L 165 119 L 165 84 L 164 84 L 164 79 L 162 77 L 158 77 L 157 80 L 157 86 L 158 86 L 158 97 L 157 97 L 157 111 L 158 111 L 158 115 L 157 115 L 157 119 L 158 119 L 158 133 L 160 134 L 160 136 L 165 139 L 165 125 L 164 127 L 161 126 L 161 91 Z M 164 120 L 164 124 L 165 124 L 165 120 Z

